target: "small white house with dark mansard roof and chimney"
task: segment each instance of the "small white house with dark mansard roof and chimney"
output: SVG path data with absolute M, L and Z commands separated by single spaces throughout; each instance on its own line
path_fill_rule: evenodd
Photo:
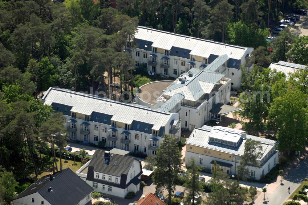
M 136 193 L 140 189 L 141 161 L 124 152 L 97 149 L 76 174 L 96 191 L 107 195 L 124 198 L 128 192 Z

